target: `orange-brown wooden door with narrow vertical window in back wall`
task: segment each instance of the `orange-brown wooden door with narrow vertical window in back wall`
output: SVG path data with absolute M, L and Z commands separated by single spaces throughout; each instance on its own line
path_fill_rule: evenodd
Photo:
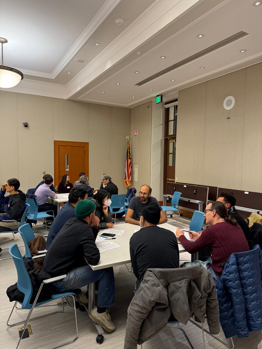
M 58 185 L 64 174 L 74 184 L 79 173 L 89 178 L 89 143 L 54 141 L 54 185 Z

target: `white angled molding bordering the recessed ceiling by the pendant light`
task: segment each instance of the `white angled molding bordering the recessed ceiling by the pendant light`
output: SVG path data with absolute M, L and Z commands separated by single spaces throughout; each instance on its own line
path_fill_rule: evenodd
M 59 64 L 56 66 L 56 68 L 54 68 L 52 73 L 37 72 L 35 70 L 28 70 L 28 69 L 21 69 L 21 68 L 15 68 L 15 69 L 20 70 L 23 74 L 55 79 L 57 75 L 61 73 L 61 71 L 65 68 L 65 66 L 73 59 L 73 57 L 78 53 L 78 51 L 83 47 L 83 45 L 86 44 L 89 38 L 97 30 L 97 28 L 100 27 L 100 25 L 104 22 L 104 20 L 110 15 L 110 13 L 117 7 L 119 2 L 121 1 L 122 0 L 107 0 L 104 6 L 93 18 L 92 22 L 88 24 L 86 29 L 82 32 L 82 34 L 77 39 L 77 41 L 72 45 L 70 50 L 66 53 L 64 58 L 61 59 Z

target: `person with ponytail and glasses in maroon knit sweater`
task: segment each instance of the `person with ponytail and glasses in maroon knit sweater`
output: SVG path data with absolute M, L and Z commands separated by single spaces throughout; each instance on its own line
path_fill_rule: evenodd
M 187 240 L 180 228 L 176 229 L 176 236 L 189 253 L 199 252 L 208 247 L 212 260 L 210 272 L 213 277 L 221 277 L 222 264 L 228 260 L 231 253 L 249 251 L 248 243 L 243 230 L 236 220 L 228 215 L 223 203 L 211 201 L 204 212 L 206 224 L 210 227 L 198 233 L 189 231 L 190 238 L 196 241 Z

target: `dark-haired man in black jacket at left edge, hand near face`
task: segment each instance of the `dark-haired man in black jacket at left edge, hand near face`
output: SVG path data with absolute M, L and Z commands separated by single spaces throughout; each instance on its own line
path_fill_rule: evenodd
M 26 209 L 26 194 L 18 188 L 20 182 L 16 178 L 8 179 L 7 183 L 2 184 L 0 190 L 0 204 L 6 205 L 7 212 L 0 216 L 0 231 L 17 230 L 16 222 L 5 222 L 8 220 L 15 220 L 21 222 L 24 210 Z M 5 193 L 10 195 L 5 196 Z

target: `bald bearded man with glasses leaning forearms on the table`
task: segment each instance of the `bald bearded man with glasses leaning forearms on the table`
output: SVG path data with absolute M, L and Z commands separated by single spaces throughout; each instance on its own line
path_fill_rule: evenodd
M 151 196 L 151 192 L 152 188 L 149 185 L 141 186 L 139 196 L 134 196 L 134 198 L 132 198 L 129 202 L 128 211 L 125 216 L 126 223 L 139 225 L 142 209 L 152 202 L 156 202 L 161 210 L 160 221 L 158 224 L 167 222 L 167 216 L 163 212 L 162 207 L 159 205 L 157 199 Z

